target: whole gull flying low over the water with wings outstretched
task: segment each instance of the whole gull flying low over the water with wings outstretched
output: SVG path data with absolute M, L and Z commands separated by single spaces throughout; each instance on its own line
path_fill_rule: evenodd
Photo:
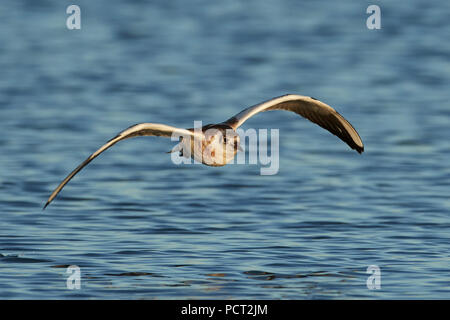
M 169 153 L 179 151 L 180 156 L 192 158 L 205 165 L 224 166 L 233 160 L 238 150 L 242 151 L 236 129 L 254 115 L 272 110 L 295 112 L 328 130 L 358 153 L 364 151 L 364 145 L 358 132 L 335 109 L 313 97 L 286 94 L 244 109 L 224 122 L 208 124 L 201 128 L 181 129 L 160 123 L 133 125 L 109 140 L 76 167 L 52 192 L 43 209 L 55 199 L 81 169 L 121 140 L 139 136 L 178 136 L 179 144 Z

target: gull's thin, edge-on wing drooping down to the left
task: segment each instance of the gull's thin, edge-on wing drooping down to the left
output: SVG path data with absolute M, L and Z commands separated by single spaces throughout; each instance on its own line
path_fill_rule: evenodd
M 161 136 L 161 137 L 171 137 L 173 134 L 176 134 L 178 136 L 184 136 L 184 137 L 191 137 L 194 136 L 194 132 L 186 130 L 186 129 L 180 129 L 175 128 L 171 126 L 167 126 L 164 124 L 159 123 L 140 123 L 136 124 L 134 126 L 129 127 L 128 129 L 120 132 L 117 136 L 109 140 L 107 143 L 105 143 L 103 146 L 101 146 L 97 151 L 95 151 L 93 154 L 91 154 L 86 160 L 83 161 L 78 167 L 75 168 L 55 189 L 55 191 L 52 192 L 50 197 L 48 198 L 44 209 L 52 202 L 52 200 L 58 195 L 58 193 L 61 191 L 62 188 L 72 179 L 81 169 L 83 169 L 89 162 L 94 160 L 100 153 L 105 151 L 106 149 L 112 147 L 117 142 L 133 138 L 133 137 L 139 137 L 139 136 Z

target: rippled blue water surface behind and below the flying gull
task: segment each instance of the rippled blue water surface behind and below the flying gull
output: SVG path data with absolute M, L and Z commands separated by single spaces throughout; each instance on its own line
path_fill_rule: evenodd
M 68 30 L 70 4 L 0 4 L 1 299 L 450 298 L 450 2 L 77 0 Z M 42 211 L 134 123 L 285 93 L 335 107 L 366 151 L 270 112 L 244 128 L 280 130 L 277 175 L 177 166 L 173 142 L 137 138 Z

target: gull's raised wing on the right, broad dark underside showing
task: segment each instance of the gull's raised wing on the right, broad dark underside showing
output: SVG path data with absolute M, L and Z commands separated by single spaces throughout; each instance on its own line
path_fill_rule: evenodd
M 227 124 L 236 130 L 247 119 L 255 114 L 270 110 L 295 112 L 339 137 L 358 153 L 364 151 L 361 137 L 350 122 L 329 105 L 306 96 L 287 94 L 273 98 L 241 111 L 234 117 L 225 121 L 224 124 Z

